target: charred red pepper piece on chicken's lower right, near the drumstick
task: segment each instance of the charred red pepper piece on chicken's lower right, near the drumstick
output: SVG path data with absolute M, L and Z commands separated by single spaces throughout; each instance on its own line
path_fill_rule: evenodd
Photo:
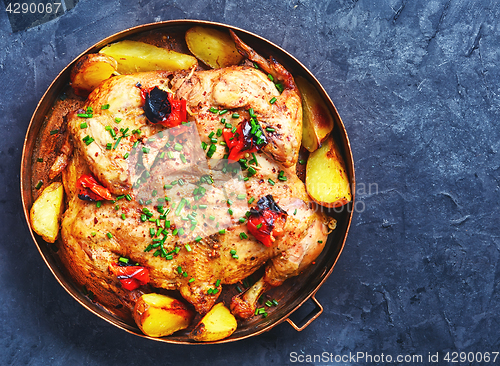
M 272 195 L 257 201 L 257 208 L 250 209 L 247 228 L 258 241 L 270 247 L 276 237 L 283 234 L 288 214 L 274 201 Z

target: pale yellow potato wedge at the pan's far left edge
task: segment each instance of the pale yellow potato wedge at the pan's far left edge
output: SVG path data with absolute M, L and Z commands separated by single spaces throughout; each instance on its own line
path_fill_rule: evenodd
M 63 213 L 63 195 L 62 183 L 54 182 L 42 191 L 31 206 L 31 226 L 43 240 L 49 243 L 54 243 L 59 234 Z

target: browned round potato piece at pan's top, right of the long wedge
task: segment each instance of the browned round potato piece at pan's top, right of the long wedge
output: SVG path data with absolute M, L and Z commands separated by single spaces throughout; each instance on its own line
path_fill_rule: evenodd
M 228 33 L 213 28 L 193 27 L 186 32 L 189 50 L 213 69 L 237 65 L 243 59 Z

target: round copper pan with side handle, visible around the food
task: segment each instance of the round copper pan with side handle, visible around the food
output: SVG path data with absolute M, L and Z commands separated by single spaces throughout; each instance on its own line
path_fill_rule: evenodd
M 313 74 L 295 57 L 290 55 L 288 52 L 282 48 L 276 46 L 270 41 L 243 29 L 236 27 L 208 22 L 208 21 L 198 21 L 198 20 L 172 20 L 165 22 L 158 22 L 152 24 L 146 24 L 137 26 L 134 28 L 127 29 L 125 31 L 116 33 L 110 37 L 103 39 L 102 41 L 96 43 L 92 47 L 88 48 L 78 57 L 76 57 L 68 66 L 66 66 L 59 75 L 51 83 L 43 97 L 41 98 L 38 106 L 31 118 L 28 131 L 24 140 L 23 154 L 21 161 L 21 195 L 24 214 L 26 221 L 28 223 L 31 236 L 38 248 L 43 260 L 49 267 L 50 271 L 55 276 L 56 280 L 61 284 L 62 287 L 82 306 L 86 309 L 104 319 L 105 321 L 123 329 L 129 333 L 133 333 L 140 337 L 150 338 L 160 342 L 166 343 L 176 343 L 176 344 L 200 344 L 193 343 L 188 339 L 187 333 L 176 333 L 172 336 L 164 338 L 151 338 L 147 337 L 137 328 L 133 323 L 127 322 L 124 319 L 114 315 L 108 309 L 100 306 L 99 304 L 91 301 L 79 288 L 73 280 L 67 275 L 63 266 L 61 265 L 57 253 L 51 249 L 51 245 L 43 241 L 37 234 L 35 234 L 31 228 L 31 223 L 29 220 L 29 210 L 34 201 L 34 182 L 32 180 L 33 174 L 33 164 L 35 164 L 36 157 L 34 157 L 33 151 L 35 149 L 36 141 L 44 130 L 44 120 L 47 113 L 50 111 L 54 104 L 54 101 L 61 94 L 63 89 L 67 87 L 69 82 L 69 74 L 72 66 L 76 61 L 84 54 L 97 52 L 99 49 L 105 45 L 123 40 L 130 37 L 136 37 L 143 32 L 184 32 L 192 26 L 202 25 L 219 28 L 222 30 L 232 29 L 234 30 L 240 38 L 254 48 L 262 56 L 268 58 L 269 56 L 274 56 L 280 63 L 282 63 L 285 68 L 292 72 L 294 76 L 301 75 L 309 80 L 313 85 L 316 86 L 318 92 L 325 100 L 327 106 L 329 107 L 330 113 L 334 116 L 335 127 L 333 134 L 340 145 L 343 156 L 346 162 L 347 173 L 351 182 L 353 201 L 345 206 L 339 212 L 330 212 L 330 214 L 338 220 L 337 228 L 334 230 L 329 238 L 320 257 L 317 258 L 314 265 L 307 269 L 300 276 L 287 280 L 282 286 L 272 290 L 273 298 L 279 301 L 279 306 L 273 309 L 269 313 L 267 318 L 255 317 L 246 322 L 239 324 L 236 332 L 233 333 L 229 338 L 212 342 L 212 343 L 226 343 L 233 342 L 236 340 L 245 339 L 251 336 L 261 334 L 271 328 L 277 326 L 278 324 L 286 321 L 296 329 L 301 331 L 305 329 L 313 320 L 318 318 L 323 312 L 323 307 L 316 299 L 315 295 L 321 285 L 326 281 L 328 276 L 333 271 L 333 268 L 344 248 L 345 240 L 347 237 L 347 232 L 351 224 L 351 219 L 353 215 L 354 207 L 354 195 L 355 195 L 355 177 L 354 177 L 354 162 L 351 152 L 351 147 L 349 144 L 349 139 L 344 127 L 344 124 L 335 108 L 333 102 L 327 95 L 325 89 L 316 80 Z M 36 183 L 36 182 L 35 182 Z M 314 304 L 314 310 L 305 316 L 301 322 L 296 322 L 290 319 L 290 315 L 299 309 L 306 301 L 312 302 Z M 298 323 L 298 324 L 297 324 Z M 206 344 L 206 343 L 205 343 Z

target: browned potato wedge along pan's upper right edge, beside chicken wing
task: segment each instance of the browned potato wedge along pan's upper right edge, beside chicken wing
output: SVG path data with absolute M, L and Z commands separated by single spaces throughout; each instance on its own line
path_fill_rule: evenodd
M 333 117 L 311 83 L 301 76 L 295 82 L 302 95 L 302 145 L 313 152 L 332 131 Z

